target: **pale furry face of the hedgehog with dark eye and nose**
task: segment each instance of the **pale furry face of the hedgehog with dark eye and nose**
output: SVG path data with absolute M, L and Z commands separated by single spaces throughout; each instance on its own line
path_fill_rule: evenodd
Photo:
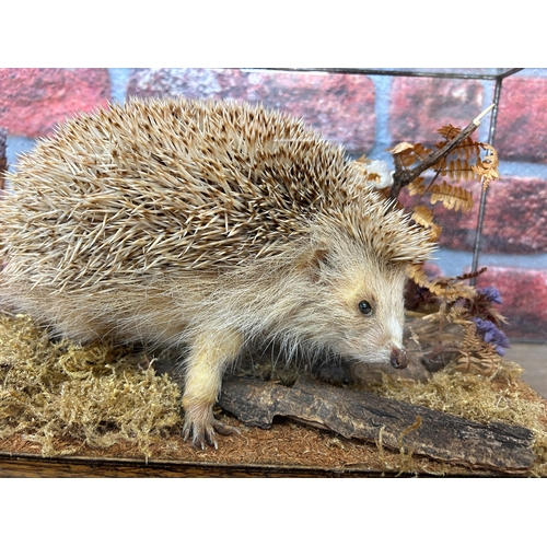
M 310 306 L 316 338 L 344 358 L 403 369 L 406 265 L 379 260 L 362 247 L 348 251 L 316 253 L 322 259 Z

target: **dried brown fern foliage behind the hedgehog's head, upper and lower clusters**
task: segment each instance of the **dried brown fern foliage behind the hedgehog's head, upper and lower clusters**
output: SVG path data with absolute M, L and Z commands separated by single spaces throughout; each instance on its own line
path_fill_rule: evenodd
M 434 149 L 441 150 L 463 131 L 446 125 L 438 129 L 438 132 L 442 140 Z M 399 170 L 410 171 L 420 163 L 427 163 L 433 151 L 421 143 L 403 142 L 391 152 Z M 432 205 L 440 202 L 446 209 L 467 213 L 474 206 L 473 194 L 458 184 L 477 182 L 486 187 L 499 178 L 498 165 L 498 154 L 493 147 L 477 142 L 468 136 L 429 167 L 432 173 L 430 177 L 420 174 L 411 181 L 407 191 L 410 196 L 422 197 L 422 200 L 423 197 L 429 197 Z M 411 218 L 429 230 L 432 242 L 439 241 L 441 226 L 434 222 L 432 208 L 421 201 L 412 208 Z M 412 292 L 411 309 L 429 314 L 427 321 L 439 326 L 433 357 L 443 351 L 453 352 L 452 363 L 457 370 L 494 373 L 500 366 L 502 348 L 508 347 L 507 337 L 500 328 L 504 318 L 492 306 L 500 303 L 501 299 L 499 293 L 492 295 L 492 291 L 496 291 L 493 288 L 484 293 L 468 284 L 472 277 L 479 276 L 484 270 L 456 278 L 435 279 L 428 277 L 422 265 L 411 265 L 408 270 L 412 280 L 409 289 Z M 454 339 L 453 329 L 449 328 L 450 334 L 446 333 L 445 327 L 453 324 L 463 328 L 459 338 Z

